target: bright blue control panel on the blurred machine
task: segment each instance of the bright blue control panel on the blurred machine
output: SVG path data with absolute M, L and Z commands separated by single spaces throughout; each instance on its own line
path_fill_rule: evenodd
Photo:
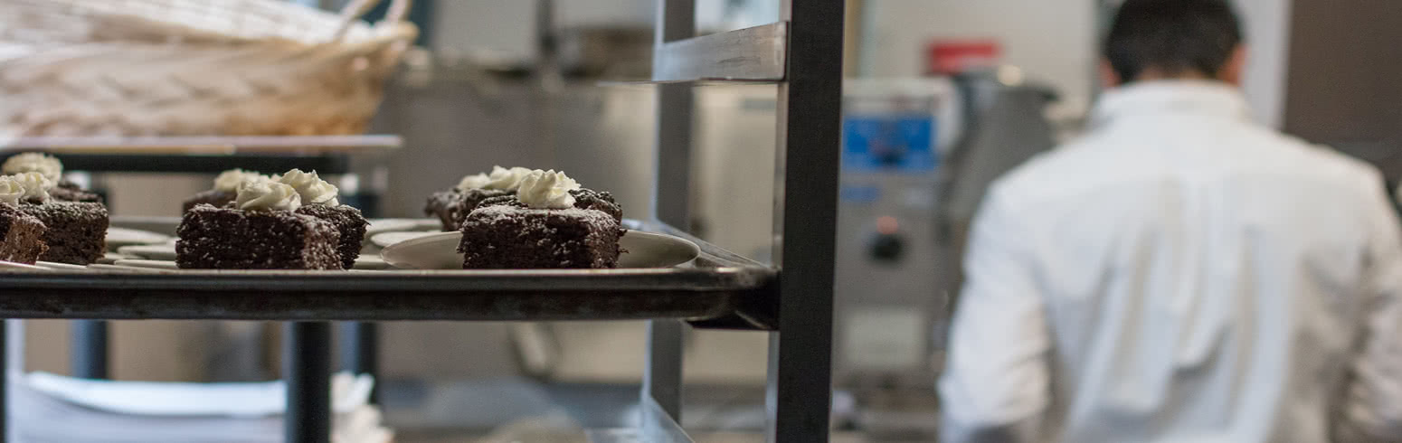
M 847 115 L 843 168 L 854 172 L 932 172 L 939 165 L 930 114 Z

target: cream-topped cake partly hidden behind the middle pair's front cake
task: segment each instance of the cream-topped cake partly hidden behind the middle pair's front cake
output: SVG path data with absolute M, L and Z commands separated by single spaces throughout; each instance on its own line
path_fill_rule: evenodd
M 336 227 L 341 240 L 336 252 L 341 254 L 341 264 L 345 269 L 355 266 L 360 258 L 360 245 L 365 243 L 365 230 L 370 224 L 359 209 L 341 205 L 339 189 L 335 185 L 317 177 L 317 171 L 303 172 L 292 170 L 278 177 L 278 182 L 286 184 L 297 191 L 301 198 L 299 214 L 313 216 L 329 222 Z

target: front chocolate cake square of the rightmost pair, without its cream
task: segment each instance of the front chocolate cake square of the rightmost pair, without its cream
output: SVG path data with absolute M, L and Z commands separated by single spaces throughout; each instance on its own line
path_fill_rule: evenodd
M 479 206 L 463 222 L 463 269 L 615 268 L 624 230 L 596 209 Z

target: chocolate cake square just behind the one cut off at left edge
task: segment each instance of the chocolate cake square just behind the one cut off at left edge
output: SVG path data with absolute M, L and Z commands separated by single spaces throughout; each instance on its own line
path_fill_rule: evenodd
M 107 251 L 107 206 L 102 203 L 48 200 L 24 203 L 20 210 L 48 227 L 43 244 L 49 247 L 39 259 L 70 265 L 90 265 Z

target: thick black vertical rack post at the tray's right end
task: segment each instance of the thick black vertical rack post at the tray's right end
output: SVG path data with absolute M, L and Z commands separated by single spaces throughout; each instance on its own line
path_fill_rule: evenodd
M 843 0 L 784 0 L 774 251 L 780 332 L 770 341 L 768 442 L 829 442 L 833 266 L 843 105 Z

